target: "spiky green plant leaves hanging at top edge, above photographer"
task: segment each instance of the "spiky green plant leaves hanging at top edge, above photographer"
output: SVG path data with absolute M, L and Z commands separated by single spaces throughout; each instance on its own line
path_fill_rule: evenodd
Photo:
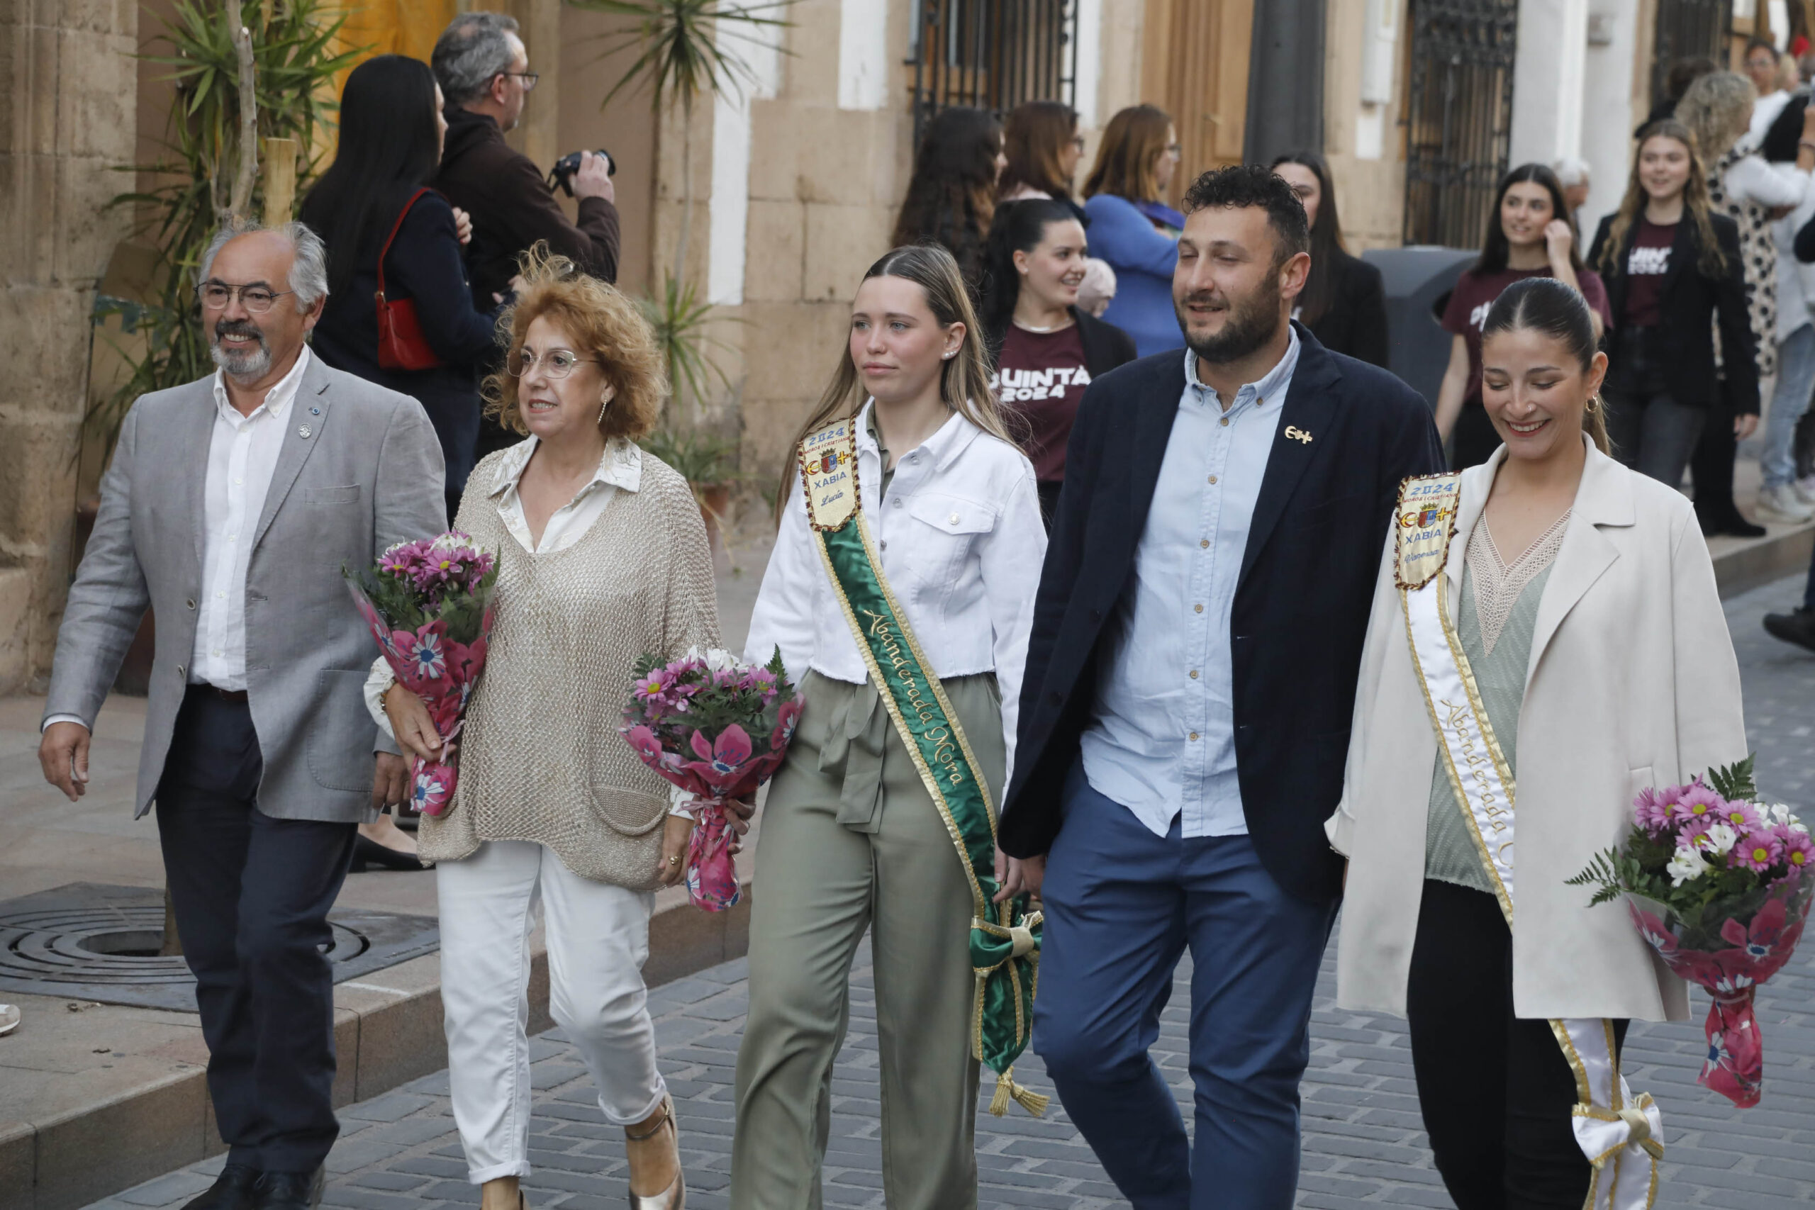
M 601 34 L 604 51 L 599 58 L 633 51 L 635 58 L 601 107 L 610 105 L 624 89 L 639 83 L 650 87 L 650 107 L 657 112 L 681 102 L 693 111 L 701 96 L 724 96 L 751 83 L 750 63 L 713 36 L 719 22 L 741 22 L 753 29 L 779 29 L 791 22 L 775 16 L 793 0 L 764 0 L 739 4 L 735 0 L 568 0 L 575 9 L 590 9 L 608 16 L 628 16 L 632 24 L 617 33 Z M 739 34 L 731 34 L 733 38 Z

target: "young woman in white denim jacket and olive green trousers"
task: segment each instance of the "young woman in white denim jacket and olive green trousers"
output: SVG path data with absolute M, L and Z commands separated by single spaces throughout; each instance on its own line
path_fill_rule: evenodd
M 846 348 L 797 446 L 819 448 L 808 439 L 837 434 L 840 419 L 873 539 L 866 559 L 875 562 L 864 566 L 893 590 L 898 620 L 918 640 L 915 657 L 944 682 L 967 738 L 964 764 L 998 802 L 1045 530 L 1033 466 L 1004 430 L 982 332 L 944 249 L 895 249 L 864 274 Z M 746 659 L 780 648 L 804 709 L 764 805 L 731 1206 L 819 1205 L 831 1065 L 868 929 L 884 1195 L 891 1210 L 966 1210 L 976 1205 L 978 1078 L 966 938 L 980 912 L 973 871 L 947 831 L 946 813 L 957 813 L 944 795 L 933 800 L 918 767 L 929 758 L 909 751 L 891 717 L 889 702 L 902 707 L 895 677 L 877 684 L 877 622 L 862 622 L 858 648 L 846 613 L 851 566 L 835 562 L 822 532 L 839 522 L 833 506 L 848 512 L 853 499 L 822 493 L 831 468 L 849 470 L 853 446 L 842 448 L 808 466 L 790 461 L 750 620 Z M 984 824 L 987 867 L 993 824 Z M 1011 873 L 1002 898 L 1015 891 Z

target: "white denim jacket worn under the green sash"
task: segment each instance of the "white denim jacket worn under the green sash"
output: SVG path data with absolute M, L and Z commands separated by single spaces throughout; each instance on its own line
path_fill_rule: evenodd
M 882 573 L 933 673 L 944 680 L 995 671 L 1013 769 L 1033 595 L 1045 559 L 1033 463 L 953 414 L 917 450 L 897 457 L 884 493 L 871 406 L 857 417 L 857 483 Z M 795 684 L 809 668 L 851 684 L 869 678 L 808 526 L 799 475 L 762 575 L 744 659 L 766 662 L 775 648 Z

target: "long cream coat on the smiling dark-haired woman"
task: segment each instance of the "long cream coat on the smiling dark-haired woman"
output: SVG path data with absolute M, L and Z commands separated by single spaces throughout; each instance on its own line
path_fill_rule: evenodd
M 1501 446 L 1463 472 L 1445 566 L 1452 620 L 1463 551 L 1505 457 Z M 1388 535 L 1329 833 L 1349 856 L 1338 1001 L 1403 1016 L 1437 738 L 1392 555 Z M 1690 503 L 1592 444 L 1537 608 L 1517 744 L 1514 1012 L 1686 1018 L 1683 981 L 1652 956 L 1624 907 L 1590 909 L 1590 889 L 1563 883 L 1624 836 L 1637 791 L 1746 755 L 1739 662 Z

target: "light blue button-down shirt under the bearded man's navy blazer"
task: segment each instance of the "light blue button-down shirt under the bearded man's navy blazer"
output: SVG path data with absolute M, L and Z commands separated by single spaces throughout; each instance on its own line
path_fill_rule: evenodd
M 1182 816 L 1183 836 L 1247 833 L 1229 611 L 1296 368 L 1292 332 L 1280 363 L 1225 408 L 1198 381 L 1196 354 L 1185 352 L 1185 390 L 1134 550 L 1134 581 L 1116 602 L 1094 718 L 1082 737 L 1091 787 L 1156 836 L 1172 816 Z

